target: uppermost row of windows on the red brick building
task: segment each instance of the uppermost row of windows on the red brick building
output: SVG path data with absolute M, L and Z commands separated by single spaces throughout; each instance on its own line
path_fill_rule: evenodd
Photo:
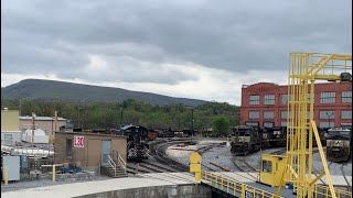
M 320 103 L 336 103 L 335 101 L 335 92 L 321 92 L 320 94 Z M 287 105 L 289 100 L 288 95 L 281 95 L 281 105 Z M 310 95 L 307 94 L 307 100 L 310 101 Z M 265 95 L 264 105 L 275 105 L 276 97 L 275 95 Z M 352 91 L 342 91 L 341 95 L 341 103 L 351 103 L 352 102 Z M 249 97 L 250 106 L 259 106 L 260 105 L 260 96 L 253 95 Z

